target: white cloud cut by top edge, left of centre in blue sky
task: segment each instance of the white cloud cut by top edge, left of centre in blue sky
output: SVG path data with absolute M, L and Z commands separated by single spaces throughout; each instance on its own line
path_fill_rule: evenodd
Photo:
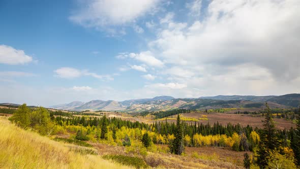
M 85 27 L 101 27 L 110 34 L 122 34 L 113 26 L 124 26 L 148 13 L 154 13 L 160 0 L 89 0 L 81 3 L 79 6 L 82 8 L 74 11 L 70 20 Z M 143 32 L 137 25 L 134 30 Z

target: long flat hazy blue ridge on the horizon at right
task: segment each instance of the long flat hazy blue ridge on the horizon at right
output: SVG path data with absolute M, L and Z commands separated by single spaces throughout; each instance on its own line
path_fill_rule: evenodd
M 208 96 L 200 97 L 201 99 L 214 99 L 214 100 L 249 100 L 249 101 L 267 101 L 269 99 L 275 98 L 278 96 L 241 96 L 241 95 L 232 95 L 232 96 Z

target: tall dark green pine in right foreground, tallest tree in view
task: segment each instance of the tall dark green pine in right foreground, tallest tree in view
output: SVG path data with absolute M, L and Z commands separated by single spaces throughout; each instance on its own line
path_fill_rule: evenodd
M 263 121 L 264 128 L 259 143 L 259 150 L 257 152 L 257 163 L 261 168 L 267 166 L 268 159 L 270 158 L 269 154 L 279 146 L 279 140 L 277 137 L 271 109 L 269 108 L 267 103 L 265 103 L 265 106 L 265 120 Z

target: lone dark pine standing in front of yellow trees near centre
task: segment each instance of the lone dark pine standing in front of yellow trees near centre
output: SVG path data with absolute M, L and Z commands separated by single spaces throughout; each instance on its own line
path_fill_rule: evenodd
M 184 132 L 183 126 L 180 121 L 180 116 L 177 116 L 176 128 L 175 128 L 175 139 L 170 146 L 170 152 L 181 155 L 185 150 L 184 146 Z

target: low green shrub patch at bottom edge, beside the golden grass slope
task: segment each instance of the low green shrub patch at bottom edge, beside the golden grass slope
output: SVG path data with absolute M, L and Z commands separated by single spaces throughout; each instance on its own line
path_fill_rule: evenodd
M 139 157 L 130 157 L 125 155 L 104 155 L 104 159 L 111 159 L 123 165 L 133 166 L 135 168 L 147 168 L 146 162 Z

